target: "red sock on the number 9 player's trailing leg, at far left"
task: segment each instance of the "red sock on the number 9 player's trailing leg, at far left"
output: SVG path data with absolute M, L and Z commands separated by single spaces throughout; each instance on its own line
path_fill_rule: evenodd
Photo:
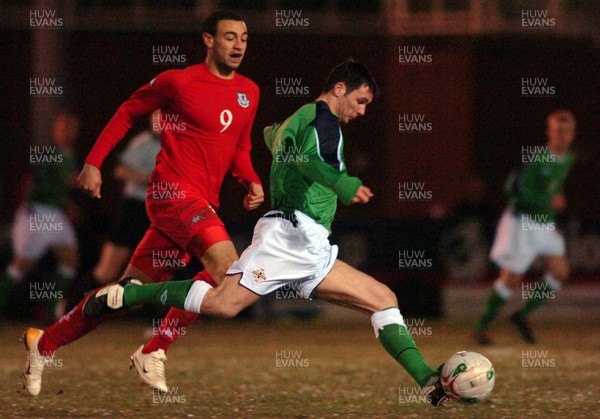
M 94 293 L 98 290 L 94 290 Z M 87 333 L 94 330 L 106 317 L 98 319 L 86 319 L 83 317 L 83 304 L 87 300 L 84 298 L 77 304 L 73 310 L 65 314 L 59 321 L 44 330 L 44 334 L 38 343 L 38 351 L 42 354 L 53 354 L 57 348 L 73 342 Z

